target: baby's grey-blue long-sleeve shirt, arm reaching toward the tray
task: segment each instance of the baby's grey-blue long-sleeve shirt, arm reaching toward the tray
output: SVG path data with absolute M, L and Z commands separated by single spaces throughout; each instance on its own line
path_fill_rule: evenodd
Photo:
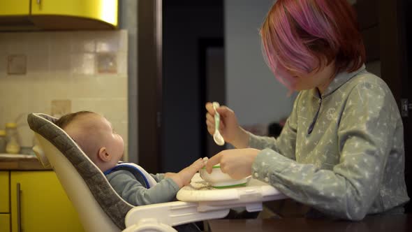
M 130 171 L 119 170 L 106 175 L 106 177 L 117 194 L 131 205 L 149 205 L 175 200 L 179 186 L 172 179 L 164 178 L 163 173 L 150 175 L 157 182 L 150 189 L 140 183 Z

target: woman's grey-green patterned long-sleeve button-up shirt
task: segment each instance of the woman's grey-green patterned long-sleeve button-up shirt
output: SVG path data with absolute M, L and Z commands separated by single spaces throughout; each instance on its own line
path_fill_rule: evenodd
M 290 198 L 359 220 L 409 201 L 402 118 L 388 86 L 365 66 L 339 73 L 322 96 L 300 92 L 279 138 L 254 136 L 252 175 Z

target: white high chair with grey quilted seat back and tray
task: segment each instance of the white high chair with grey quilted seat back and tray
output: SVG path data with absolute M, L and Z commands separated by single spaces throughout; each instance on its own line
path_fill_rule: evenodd
M 177 194 L 180 201 L 133 206 L 112 189 L 100 169 L 54 124 L 56 120 L 41 113 L 28 115 L 38 140 L 33 150 L 43 166 L 53 168 L 85 231 L 176 231 L 172 226 L 219 219 L 228 215 L 230 208 L 256 212 L 262 210 L 263 201 L 286 198 L 270 185 L 252 179 L 247 187 L 231 189 L 186 186 Z M 198 175 L 192 182 L 196 178 Z

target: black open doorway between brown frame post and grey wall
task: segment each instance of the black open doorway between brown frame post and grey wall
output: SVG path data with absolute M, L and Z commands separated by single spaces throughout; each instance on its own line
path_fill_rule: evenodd
M 217 75 L 208 65 L 221 59 L 216 41 L 223 51 L 223 0 L 163 1 L 162 22 L 161 171 L 177 172 L 206 154 L 206 84 Z

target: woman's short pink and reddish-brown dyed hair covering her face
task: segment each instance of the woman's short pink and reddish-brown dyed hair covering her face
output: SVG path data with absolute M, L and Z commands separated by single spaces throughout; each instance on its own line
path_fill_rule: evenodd
M 355 11 L 346 0 L 278 0 L 260 36 L 268 66 L 289 89 L 293 75 L 332 61 L 336 73 L 355 71 L 365 62 Z

